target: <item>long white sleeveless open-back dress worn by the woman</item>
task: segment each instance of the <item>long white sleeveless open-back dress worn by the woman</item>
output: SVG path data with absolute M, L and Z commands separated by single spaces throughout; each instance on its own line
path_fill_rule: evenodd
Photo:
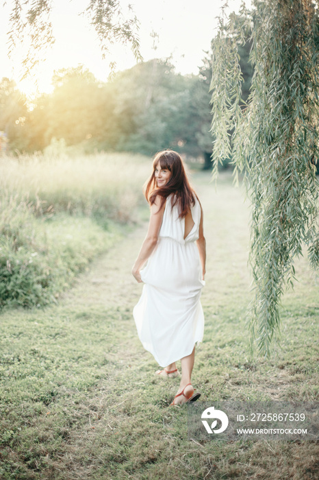
M 195 197 L 191 208 L 194 226 L 184 239 L 185 219 L 166 200 L 159 239 L 146 267 L 140 271 L 142 296 L 133 309 L 138 337 L 157 363 L 166 367 L 192 353 L 203 339 L 201 289 L 205 285 L 199 250 L 201 206 Z

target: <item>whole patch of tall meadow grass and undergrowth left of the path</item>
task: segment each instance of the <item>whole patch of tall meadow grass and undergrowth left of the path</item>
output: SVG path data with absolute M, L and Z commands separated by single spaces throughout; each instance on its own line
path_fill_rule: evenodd
M 0 158 L 0 308 L 55 301 L 136 221 L 150 162 L 129 154 Z

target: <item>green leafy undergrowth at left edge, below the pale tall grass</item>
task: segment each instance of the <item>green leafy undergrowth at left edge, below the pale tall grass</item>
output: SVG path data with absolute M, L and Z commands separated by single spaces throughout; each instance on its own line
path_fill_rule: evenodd
M 13 197 L 0 206 L 0 308 L 56 301 L 75 275 L 120 237 L 114 224 L 105 230 L 90 218 L 36 219 Z

